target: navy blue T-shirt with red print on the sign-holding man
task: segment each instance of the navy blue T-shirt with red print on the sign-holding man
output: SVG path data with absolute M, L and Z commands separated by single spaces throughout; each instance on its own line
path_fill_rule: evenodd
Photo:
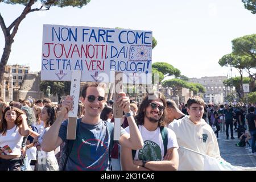
M 107 131 L 105 121 L 96 125 L 81 122 L 77 130 L 76 140 L 69 155 L 67 171 L 105 171 L 109 170 L 110 133 Z M 67 142 L 67 120 L 60 126 L 59 137 Z M 121 135 L 126 133 L 121 128 Z

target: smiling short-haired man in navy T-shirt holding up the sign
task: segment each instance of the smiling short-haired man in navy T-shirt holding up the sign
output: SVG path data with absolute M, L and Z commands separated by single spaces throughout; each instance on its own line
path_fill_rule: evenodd
M 113 123 L 107 123 L 100 118 L 106 102 L 104 86 L 97 82 L 85 84 L 81 94 L 85 114 L 84 117 L 77 119 L 79 125 L 77 125 L 76 139 L 68 156 L 65 170 L 109 170 Z M 121 146 L 137 150 L 143 147 L 143 140 L 131 114 L 130 100 L 125 93 L 119 93 L 119 95 L 121 97 L 117 100 L 117 104 L 125 112 L 131 132 L 128 134 L 121 128 L 121 137 L 118 142 Z M 67 120 L 61 122 L 64 115 L 72 110 L 72 106 L 72 97 L 67 96 L 55 123 L 44 137 L 42 143 L 44 151 L 54 150 L 61 143 L 67 142 Z M 112 125 L 112 131 L 110 131 L 110 125 Z

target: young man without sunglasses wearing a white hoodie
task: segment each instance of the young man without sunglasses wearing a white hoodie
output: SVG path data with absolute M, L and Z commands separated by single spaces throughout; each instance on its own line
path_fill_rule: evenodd
M 189 98 L 187 102 L 189 115 L 169 125 L 170 129 L 175 132 L 180 147 L 180 171 L 203 170 L 204 158 L 199 153 L 221 160 L 220 149 L 212 127 L 202 119 L 204 105 L 204 100 L 199 96 Z

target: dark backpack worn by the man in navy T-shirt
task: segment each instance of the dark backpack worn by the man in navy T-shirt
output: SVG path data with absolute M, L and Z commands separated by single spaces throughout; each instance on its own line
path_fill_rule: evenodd
M 79 131 L 79 125 L 80 125 L 81 119 L 78 119 L 76 122 L 76 131 Z M 114 125 L 112 123 L 104 121 L 104 124 L 106 125 L 107 131 L 109 132 L 110 135 L 110 145 L 109 145 L 109 163 L 111 168 L 111 151 L 114 146 Z M 76 136 L 77 137 L 77 136 Z M 61 144 L 62 150 L 60 150 L 60 160 L 59 160 L 59 171 L 65 171 L 69 155 L 71 154 L 73 144 L 75 140 L 67 140 L 67 142 L 64 142 Z

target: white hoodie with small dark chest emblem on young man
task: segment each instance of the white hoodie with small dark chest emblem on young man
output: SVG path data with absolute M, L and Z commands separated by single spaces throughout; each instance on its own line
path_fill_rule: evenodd
M 186 147 L 220 159 L 220 149 L 218 148 L 217 138 L 204 119 L 195 125 L 188 116 L 172 122 L 169 126 L 177 137 L 177 143 L 180 147 Z M 201 171 L 204 168 L 204 157 L 180 148 L 179 152 L 179 171 L 195 170 Z

